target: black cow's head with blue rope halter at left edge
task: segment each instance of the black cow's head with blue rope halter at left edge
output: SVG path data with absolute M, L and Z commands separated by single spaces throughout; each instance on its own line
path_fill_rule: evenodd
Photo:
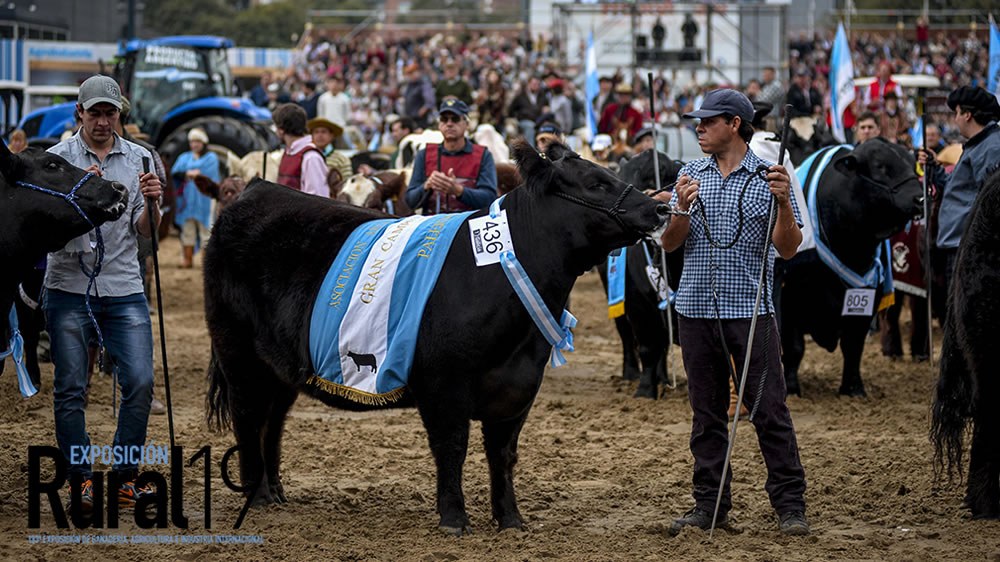
M 92 228 L 73 205 L 57 195 L 70 193 L 86 175 L 62 157 L 36 148 L 11 154 L 0 142 L 0 175 L 0 248 L 5 252 L 0 259 L 6 263 L 37 262 L 46 252 L 62 248 Z M 100 226 L 122 216 L 128 190 L 95 174 L 77 188 L 74 201 L 94 226 Z

